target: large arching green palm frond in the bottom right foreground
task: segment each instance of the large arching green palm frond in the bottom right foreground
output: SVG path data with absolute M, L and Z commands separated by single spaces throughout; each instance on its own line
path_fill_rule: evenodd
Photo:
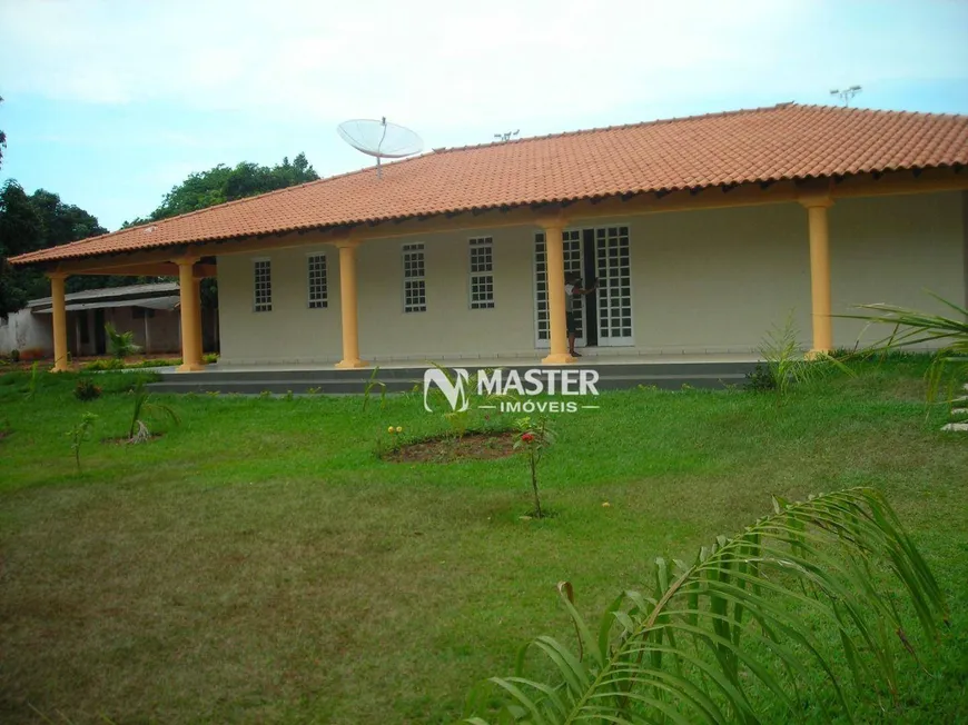
M 896 654 L 917 640 L 906 622 L 934 643 L 947 620 L 935 577 L 870 488 L 776 499 L 692 566 L 656 559 L 655 572 L 653 592 L 624 593 L 594 633 L 561 585 L 579 653 L 533 640 L 514 676 L 475 688 L 467 722 L 760 723 L 810 707 L 851 719 L 856 695 L 897 696 Z M 546 678 L 525 675 L 535 654 Z

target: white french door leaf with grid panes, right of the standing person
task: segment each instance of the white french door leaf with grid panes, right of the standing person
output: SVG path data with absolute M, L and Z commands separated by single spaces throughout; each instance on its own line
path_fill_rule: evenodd
M 599 346 L 634 345 L 629 227 L 595 229 L 595 270 L 599 275 Z

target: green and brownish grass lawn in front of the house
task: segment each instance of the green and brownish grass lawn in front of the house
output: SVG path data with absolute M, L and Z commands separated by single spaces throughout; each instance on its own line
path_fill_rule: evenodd
M 905 699 L 862 722 L 968 719 L 968 438 L 925 416 L 920 358 L 858 364 L 777 409 L 742 391 L 608 394 L 555 418 L 532 505 L 520 456 L 379 460 L 376 441 L 448 424 L 416 397 L 158 396 L 180 426 L 127 433 L 145 374 L 0 377 L 0 722 L 448 723 L 477 681 L 547 633 L 555 584 L 596 616 L 787 498 L 886 493 L 950 597 Z M 76 471 L 67 431 L 98 416 Z M 480 421 L 478 421 L 480 423 Z M 498 421 L 491 420 L 491 425 Z M 508 421 L 510 423 L 510 421 Z M 609 507 L 602 504 L 608 501 Z

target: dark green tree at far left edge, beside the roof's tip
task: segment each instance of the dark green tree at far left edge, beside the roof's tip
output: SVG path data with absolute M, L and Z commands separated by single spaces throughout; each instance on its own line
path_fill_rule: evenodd
M 0 316 L 22 309 L 27 300 L 43 297 L 47 282 L 34 269 L 19 269 L 7 259 L 43 247 L 43 220 L 17 181 L 0 187 Z

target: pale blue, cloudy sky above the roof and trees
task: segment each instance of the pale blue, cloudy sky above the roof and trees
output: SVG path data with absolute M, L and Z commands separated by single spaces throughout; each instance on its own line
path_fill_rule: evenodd
M 0 0 L 0 182 L 113 230 L 189 173 L 336 126 L 425 150 L 796 101 L 968 113 L 968 0 Z

